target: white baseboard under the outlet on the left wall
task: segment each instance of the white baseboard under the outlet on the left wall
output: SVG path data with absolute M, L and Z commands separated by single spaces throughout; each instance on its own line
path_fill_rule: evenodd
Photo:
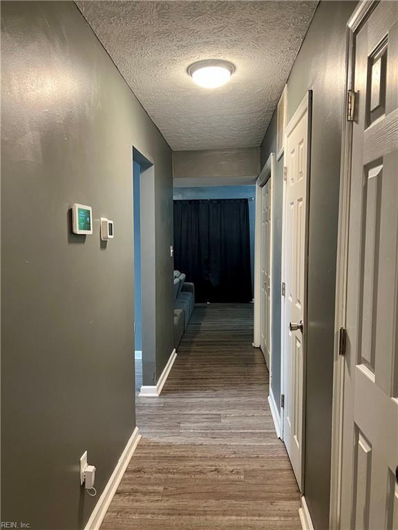
M 135 427 L 129 442 L 127 442 L 122 455 L 120 455 L 119 461 L 113 470 L 111 478 L 109 478 L 104 491 L 102 491 L 97 504 L 95 504 L 95 508 L 93 509 L 93 512 L 91 513 L 84 530 L 99 530 L 99 527 L 104 520 L 106 511 L 108 510 L 109 504 L 111 504 L 113 495 L 116 493 L 120 480 L 122 480 L 124 475 L 124 471 L 126 471 L 126 467 L 129 465 L 131 457 L 133 456 L 135 448 L 138 446 L 138 442 L 140 442 L 140 440 L 140 431 L 138 431 L 138 427 Z

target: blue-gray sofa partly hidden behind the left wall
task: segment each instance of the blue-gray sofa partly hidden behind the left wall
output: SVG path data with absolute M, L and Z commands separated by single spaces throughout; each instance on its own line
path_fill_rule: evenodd
M 174 271 L 174 347 L 187 329 L 195 306 L 195 286 L 185 282 L 184 273 Z

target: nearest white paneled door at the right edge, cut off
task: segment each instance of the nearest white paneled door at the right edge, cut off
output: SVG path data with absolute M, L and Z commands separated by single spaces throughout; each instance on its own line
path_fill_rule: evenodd
M 398 3 L 354 40 L 341 530 L 397 530 Z

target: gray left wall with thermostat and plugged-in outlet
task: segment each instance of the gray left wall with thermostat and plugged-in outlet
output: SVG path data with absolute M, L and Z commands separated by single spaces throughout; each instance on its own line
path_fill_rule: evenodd
M 133 146 L 155 164 L 157 373 L 173 349 L 171 150 L 74 3 L 1 15 L 1 515 L 76 530 L 135 427 Z M 74 202 L 93 235 L 71 235 Z

